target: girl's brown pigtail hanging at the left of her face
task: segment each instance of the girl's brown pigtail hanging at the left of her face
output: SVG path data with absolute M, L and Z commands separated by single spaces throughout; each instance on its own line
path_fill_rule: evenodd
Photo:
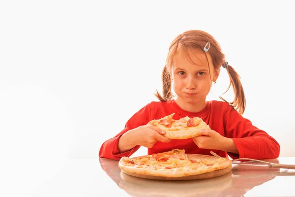
M 162 93 L 163 93 L 163 97 L 156 90 L 156 93 L 154 94 L 156 96 L 156 98 L 159 99 L 162 102 L 167 101 L 168 99 L 172 99 L 173 95 L 171 93 L 171 86 L 172 86 L 171 84 L 172 84 L 171 74 L 168 71 L 167 67 L 164 66 L 164 68 L 162 70 L 162 85 L 163 85 Z

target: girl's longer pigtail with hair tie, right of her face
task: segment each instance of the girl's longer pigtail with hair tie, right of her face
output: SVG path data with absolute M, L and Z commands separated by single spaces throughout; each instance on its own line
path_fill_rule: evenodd
M 222 97 L 219 97 L 219 98 L 231 104 L 233 108 L 235 108 L 242 115 L 246 108 L 246 98 L 245 98 L 244 90 L 240 81 L 240 76 L 237 74 L 236 70 L 232 66 L 227 65 L 226 69 L 230 76 L 231 83 L 228 89 L 225 91 L 225 93 L 230 89 L 231 85 L 233 85 L 233 89 L 235 92 L 235 99 L 233 102 L 228 102 Z

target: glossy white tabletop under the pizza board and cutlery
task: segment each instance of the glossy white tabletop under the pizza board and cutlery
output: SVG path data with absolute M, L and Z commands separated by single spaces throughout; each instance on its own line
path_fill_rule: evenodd
M 295 164 L 295 157 L 268 160 Z M 3 165 L 4 164 L 4 165 Z M 295 170 L 233 165 L 221 177 L 156 181 L 125 175 L 109 159 L 28 160 L 1 166 L 1 197 L 295 197 Z

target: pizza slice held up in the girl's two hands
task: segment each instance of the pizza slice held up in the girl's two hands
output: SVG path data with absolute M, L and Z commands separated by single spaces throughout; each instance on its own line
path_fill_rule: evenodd
M 200 117 L 183 117 L 179 120 L 173 119 L 175 113 L 158 120 L 152 120 L 147 125 L 152 125 L 163 131 L 165 137 L 169 139 L 187 139 L 201 135 L 200 130 L 211 130 L 210 127 Z

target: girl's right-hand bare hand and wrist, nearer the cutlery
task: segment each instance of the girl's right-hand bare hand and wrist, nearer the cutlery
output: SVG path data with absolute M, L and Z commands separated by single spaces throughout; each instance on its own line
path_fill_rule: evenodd
M 229 138 L 213 130 L 201 130 L 200 132 L 202 135 L 192 138 L 199 148 L 226 151 Z

